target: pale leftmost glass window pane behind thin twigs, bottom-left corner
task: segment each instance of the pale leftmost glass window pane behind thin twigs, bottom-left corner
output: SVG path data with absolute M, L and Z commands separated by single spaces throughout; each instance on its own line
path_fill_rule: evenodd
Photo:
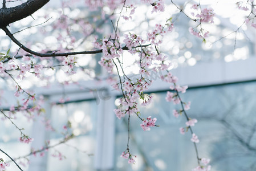
M 23 128 L 21 131 L 25 135 L 31 135 L 33 121 L 30 115 L 24 115 L 22 112 L 10 113 L 9 111 L 3 111 L 3 113 L 10 117 L 11 121 L 13 121 L 19 129 Z M 0 115 L 0 118 L 2 119 L 0 124 L 0 148 L 14 159 L 29 154 L 31 144 L 19 142 L 19 137 L 21 137 L 19 129 L 16 128 L 7 117 L 4 117 L 2 113 L 0 113 Z M 2 152 L 0 153 L 0 158 L 3 158 L 4 161 L 10 161 L 10 158 Z M 23 169 L 27 170 L 28 160 L 26 158 L 21 158 L 16 161 Z M 17 166 L 13 162 L 10 162 L 10 167 L 8 169 L 15 170 L 17 169 Z

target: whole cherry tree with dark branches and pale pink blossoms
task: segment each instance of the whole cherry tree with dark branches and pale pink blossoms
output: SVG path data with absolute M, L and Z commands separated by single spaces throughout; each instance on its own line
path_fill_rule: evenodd
M 52 0 L 53 1 L 53 0 Z M 149 77 L 151 72 L 160 75 L 163 82 L 169 84 L 169 91 L 166 93 L 166 101 L 178 105 L 180 109 L 174 109 L 174 117 L 185 117 L 186 122 L 180 128 L 181 135 L 190 136 L 196 152 L 197 163 L 192 170 L 210 170 L 210 159 L 200 156 L 198 145 L 200 137 L 193 131 L 198 120 L 189 115 L 190 104 L 193 101 L 186 101 L 181 98 L 188 86 L 180 85 L 178 78 L 172 74 L 174 64 L 169 54 L 162 52 L 165 36 L 168 36 L 176 29 L 178 15 L 184 15 L 192 22 L 192 27 L 187 31 L 203 43 L 208 43 L 212 34 L 211 27 L 214 26 L 216 17 L 214 5 L 204 4 L 203 1 L 178 1 L 164 0 L 141 0 L 141 1 L 116 1 L 116 0 L 72 0 L 55 2 L 59 9 L 48 5 L 50 0 L 3 0 L 0 9 L 0 27 L 11 40 L 9 47 L 3 47 L 0 56 L 0 76 L 6 84 L 13 87 L 13 95 L 17 97 L 18 103 L 10 104 L 10 108 L 1 108 L 3 103 L 0 98 L 0 112 L 3 120 L 9 121 L 21 133 L 17 137 L 21 143 L 31 143 L 33 137 L 27 135 L 22 128 L 17 126 L 19 122 L 15 119 L 15 113 L 22 112 L 28 119 L 33 120 L 35 116 L 46 115 L 43 108 L 44 97 L 34 93 L 31 88 L 26 88 L 25 82 L 31 83 L 32 87 L 46 87 L 59 82 L 64 86 L 67 84 L 79 84 L 84 77 L 94 80 L 107 80 L 112 88 L 120 92 L 119 105 L 113 111 L 118 119 L 128 118 L 127 148 L 121 153 L 121 157 L 127 159 L 129 164 L 135 163 L 136 155 L 129 146 L 130 140 L 130 118 L 136 117 L 141 121 L 140 127 L 143 131 L 157 129 L 157 118 L 141 113 L 138 106 L 147 106 L 154 97 L 145 93 L 151 88 L 153 79 Z M 52 2 L 54 3 L 54 2 Z M 243 27 L 256 27 L 255 23 L 255 2 L 241 1 L 233 2 L 237 10 L 241 11 L 243 18 L 237 28 L 225 36 L 235 35 L 234 48 L 239 31 Z M 77 10 L 82 6 L 86 11 Z M 144 17 L 151 20 L 153 27 L 129 28 L 130 22 L 141 22 L 137 14 L 141 6 L 147 6 Z M 169 8 L 176 10 L 175 16 L 170 14 Z M 215 6 L 216 7 L 216 6 Z M 162 14 L 162 15 L 161 15 Z M 148 17 L 147 15 L 150 15 Z M 148 18 L 147 18 L 148 17 Z M 18 24 L 17 24 L 18 23 Z M 126 25 L 125 25 L 126 23 Z M 128 24 L 128 25 L 127 25 Z M 21 27 L 22 26 L 22 27 Z M 125 28 L 127 26 L 128 28 Z M 209 29 L 209 30 L 208 30 Z M 30 35 L 31 34 L 31 35 Z M 46 39 L 50 38 L 50 39 Z M 84 67 L 84 58 L 96 58 L 96 67 L 101 67 L 102 75 L 97 73 L 96 67 Z M 129 58 L 133 59 L 132 64 L 126 64 Z M 129 63 L 129 62 L 128 62 Z M 125 66 L 132 66 L 136 79 Z M 47 74 L 51 72 L 53 74 Z M 61 76 L 58 78 L 56 74 Z M 78 79 L 74 79 L 78 78 Z M 33 81 L 34 80 L 34 81 Z M 40 85 L 39 85 L 40 84 Z M 5 89 L 3 89 L 5 91 Z M 92 90 L 93 91 L 93 90 Z M 66 103 L 68 98 L 63 96 L 59 103 Z M 172 105 L 172 104 L 170 104 Z M 115 114 L 114 114 L 115 113 Z M 51 120 L 44 120 L 47 129 L 56 131 L 51 127 Z M 72 125 L 67 121 L 63 129 L 67 131 Z M 64 144 L 75 136 L 64 133 L 64 138 L 58 144 Z M 46 144 L 42 149 L 32 149 L 33 154 L 44 155 L 44 152 L 58 144 Z M 0 170 L 8 170 L 13 162 L 19 170 L 23 170 L 15 158 L 9 156 L 8 152 L 1 149 L 1 152 L 9 157 L 9 161 L 0 159 Z M 25 157 L 27 157 L 25 156 Z M 61 152 L 52 154 L 62 160 Z M 21 156 L 22 157 L 22 156 Z M 23 156 L 24 157 L 24 156 Z

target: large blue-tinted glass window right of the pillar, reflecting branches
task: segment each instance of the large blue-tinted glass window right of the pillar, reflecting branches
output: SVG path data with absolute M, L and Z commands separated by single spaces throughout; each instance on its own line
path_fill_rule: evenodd
M 210 158 L 212 170 L 255 170 L 256 82 L 222 86 L 190 88 L 181 98 L 191 101 L 187 112 L 198 123 L 193 131 L 198 135 L 200 157 Z M 129 166 L 120 154 L 127 148 L 127 121 L 116 121 L 116 170 L 191 170 L 197 166 L 191 134 L 181 135 L 185 117 L 175 118 L 165 101 L 166 92 L 155 92 L 148 107 L 140 107 L 141 117 L 157 117 L 151 131 L 140 128 L 141 121 L 131 117 L 131 153 L 136 164 Z

